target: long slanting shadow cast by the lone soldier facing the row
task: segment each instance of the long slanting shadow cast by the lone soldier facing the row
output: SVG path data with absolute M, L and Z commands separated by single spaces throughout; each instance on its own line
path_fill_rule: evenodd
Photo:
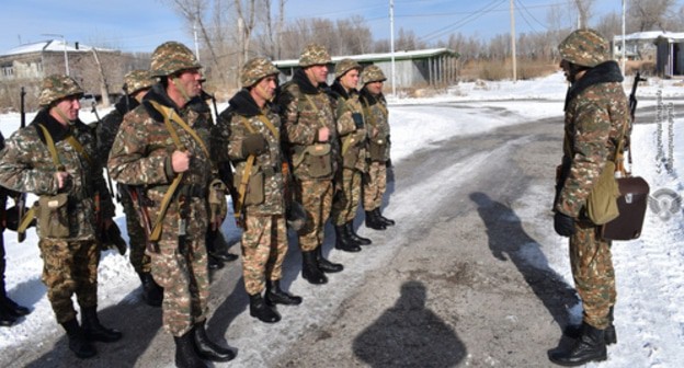
M 539 243 L 525 232 L 513 209 L 480 192 L 471 193 L 470 199 L 487 227 L 492 255 L 512 262 L 556 323 L 565 327 L 570 320 L 568 310 L 579 302 L 574 289 L 549 267 Z

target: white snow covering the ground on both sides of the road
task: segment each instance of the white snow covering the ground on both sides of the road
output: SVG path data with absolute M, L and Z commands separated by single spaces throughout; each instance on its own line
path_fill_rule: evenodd
M 625 83 L 629 92 L 631 80 Z M 543 117 L 558 117 L 561 122 L 562 104 L 567 84 L 562 73 L 555 73 L 535 81 L 510 81 L 461 83 L 449 88 L 446 93 L 430 99 L 390 100 L 390 124 L 392 127 L 392 159 L 399 161 L 413 151 L 448 137 L 488 131 L 493 128 L 529 122 Z M 684 87 L 671 80 L 649 80 L 641 85 L 639 107 L 653 106 L 660 93 L 664 103 L 683 102 Z M 532 101 L 534 100 L 534 101 Z M 458 115 L 454 108 L 440 114 L 442 103 L 461 103 Z M 392 108 L 394 106 L 394 108 Z M 503 107 L 508 114 L 483 114 L 479 107 Z M 225 104 L 219 104 L 223 110 Z M 491 110 L 488 110 L 491 111 Z M 430 114 L 426 114 L 430 112 Z M 447 113 L 448 112 L 448 113 Z M 104 115 L 106 111 L 100 111 Z M 684 172 L 684 117 L 674 111 L 673 170 L 665 170 L 659 159 L 658 125 L 638 124 L 632 133 L 635 175 L 645 177 L 651 193 L 666 188 L 680 197 L 684 195 L 681 179 Z M 426 117 L 429 116 L 429 117 Z M 637 111 L 639 116 L 639 111 Z M 29 114 L 31 122 L 33 114 Z M 94 120 L 94 115 L 83 110 L 81 119 Z M 19 126 L 18 114 L 0 115 L 0 129 L 9 137 Z M 641 123 L 649 123 L 640 119 Z M 424 129 L 415 129 L 423 126 Z M 666 127 L 666 124 L 664 125 Z M 662 134 L 664 152 L 668 152 L 668 130 Z M 560 139 L 560 138 L 559 138 Z M 558 148 L 560 152 L 560 147 Z M 560 154 L 560 153 L 559 153 Z M 546 198 L 539 198 L 537 206 L 548 207 Z M 30 203 L 32 203 L 30 198 Z M 417 204 L 413 204 L 414 206 Z M 525 221 L 526 219 L 522 219 Z M 118 208 L 117 223 L 125 230 L 122 210 Z M 548 225 L 549 231 L 551 225 Z M 231 220 L 224 223 L 229 239 L 238 238 L 239 230 Z M 46 298 L 41 281 L 42 261 L 37 238 L 33 229 L 23 243 L 16 242 L 14 232 L 4 233 L 7 250 L 7 285 L 12 299 L 30 307 L 33 312 L 12 327 L 0 329 L 0 350 L 22 346 L 36 341 L 35 336 L 60 330 Z M 550 266 L 567 280 L 572 280 L 567 260 L 567 240 L 556 238 L 557 246 L 548 246 Z M 663 219 L 648 211 L 641 238 L 631 242 L 614 244 L 614 261 L 617 274 L 619 321 L 619 344 L 611 348 L 609 360 L 602 367 L 679 367 L 684 361 L 684 214 L 680 209 L 670 219 Z M 132 295 L 139 281 L 127 256 L 115 251 L 103 253 L 100 268 L 99 302 L 101 308 L 119 303 Z M 571 283 L 571 281 L 570 281 Z M 581 310 L 573 315 L 579 321 Z M 61 333 L 61 332 L 59 332 Z M 544 347 L 540 347 L 544 348 Z M 680 361 L 677 364 L 677 361 Z

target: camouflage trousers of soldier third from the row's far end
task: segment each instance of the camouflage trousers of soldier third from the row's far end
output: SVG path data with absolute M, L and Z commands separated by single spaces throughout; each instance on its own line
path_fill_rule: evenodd
M 323 243 L 323 228 L 332 207 L 332 181 L 295 180 L 295 198 L 307 211 L 307 223 L 298 232 L 299 249 L 310 252 Z

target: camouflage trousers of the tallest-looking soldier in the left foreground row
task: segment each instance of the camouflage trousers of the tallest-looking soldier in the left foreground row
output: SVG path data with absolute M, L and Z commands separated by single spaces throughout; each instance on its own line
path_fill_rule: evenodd
M 157 199 L 157 198 L 152 198 Z M 150 253 L 155 281 L 163 287 L 162 323 L 173 336 L 182 336 L 197 322 L 206 320 L 209 272 L 205 246 L 208 214 L 206 199 L 190 198 L 185 235 L 179 235 L 176 203 L 163 219 L 158 253 Z M 150 215 L 158 208 L 150 208 Z M 151 218 L 155 223 L 156 218 Z

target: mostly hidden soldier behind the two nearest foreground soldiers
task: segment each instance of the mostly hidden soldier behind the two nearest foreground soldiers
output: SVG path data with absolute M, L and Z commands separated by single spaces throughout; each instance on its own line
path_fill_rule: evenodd
M 142 97 L 147 94 L 152 84 L 155 84 L 155 79 L 152 79 L 148 70 L 133 70 L 124 77 L 123 90 L 126 94 L 116 102 L 114 110 L 102 118 L 95 129 L 98 134 L 99 159 L 103 166 L 106 165 L 106 160 L 112 150 L 112 145 L 114 145 L 114 138 L 118 133 L 118 127 L 124 120 L 124 115 L 140 105 L 140 101 L 142 101 Z M 140 277 L 142 298 L 149 306 L 161 307 L 163 290 L 155 283 L 150 274 L 150 257 L 145 254 L 145 229 L 142 229 L 140 217 L 134 206 L 128 189 L 129 188 L 124 185 L 118 185 L 118 193 L 122 194 L 121 203 L 124 207 L 124 214 L 126 215 L 126 229 L 130 244 L 128 257 L 133 268 Z

